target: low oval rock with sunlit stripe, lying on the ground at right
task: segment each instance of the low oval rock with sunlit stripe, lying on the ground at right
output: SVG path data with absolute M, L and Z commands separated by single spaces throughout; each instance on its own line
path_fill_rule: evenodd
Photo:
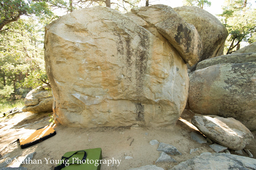
M 242 150 L 253 139 L 250 130 L 234 118 L 194 116 L 191 123 L 206 137 L 231 150 Z

